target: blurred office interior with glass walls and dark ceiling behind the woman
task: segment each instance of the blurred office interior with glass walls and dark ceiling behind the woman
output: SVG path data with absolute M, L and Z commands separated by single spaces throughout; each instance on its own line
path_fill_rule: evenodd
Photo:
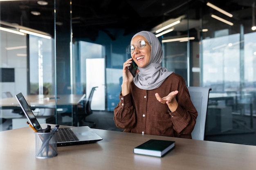
M 49 122 L 74 125 L 76 104 L 63 106 L 58 96 L 88 99 L 97 86 L 87 119 L 119 130 L 112 117 L 126 46 L 147 30 L 162 42 L 164 67 L 187 86 L 212 88 L 205 140 L 256 145 L 254 26 L 254 0 L 0 0 L 0 99 L 55 97 L 51 106 L 28 102 Z M 1 130 L 17 127 L 19 108 L 0 105 Z

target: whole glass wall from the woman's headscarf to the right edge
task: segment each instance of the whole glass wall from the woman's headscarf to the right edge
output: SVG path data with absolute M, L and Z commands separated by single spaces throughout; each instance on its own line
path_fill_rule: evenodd
M 184 18 L 176 20 L 183 25 L 186 22 L 187 31 L 181 31 L 177 24 L 172 27 L 173 31 L 161 36 L 164 64 L 182 75 L 187 85 L 212 88 L 206 140 L 255 144 L 249 142 L 255 132 L 253 3 L 241 2 L 238 3 L 241 8 L 232 9 L 229 3 L 226 6 L 217 3 L 229 11 L 229 16 L 207 2 L 197 3 L 198 8 L 194 4 L 189 2 L 177 9 L 186 8 Z M 184 37 L 186 40 L 178 39 Z M 248 139 L 238 140 L 241 134 Z

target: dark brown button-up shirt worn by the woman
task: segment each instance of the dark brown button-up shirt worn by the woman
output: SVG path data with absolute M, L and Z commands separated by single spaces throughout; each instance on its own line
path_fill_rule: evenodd
M 176 90 L 179 91 L 176 95 L 178 107 L 171 112 L 167 104 L 157 101 L 155 93 L 165 97 Z M 198 113 L 180 75 L 172 73 L 154 90 L 142 90 L 132 82 L 130 93 L 119 98 L 120 102 L 114 109 L 114 121 L 124 132 L 192 138 Z

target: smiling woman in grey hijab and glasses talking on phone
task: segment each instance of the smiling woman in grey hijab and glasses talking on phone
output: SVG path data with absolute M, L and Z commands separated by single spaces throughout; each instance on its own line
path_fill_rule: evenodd
M 161 66 L 163 51 L 157 37 L 141 31 L 132 37 L 124 62 L 120 102 L 114 121 L 124 132 L 191 139 L 198 115 L 184 79 Z M 128 70 L 138 65 L 135 77 Z

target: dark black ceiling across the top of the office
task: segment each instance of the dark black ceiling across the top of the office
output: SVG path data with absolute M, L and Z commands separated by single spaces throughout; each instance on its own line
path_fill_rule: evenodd
M 42 6 L 38 0 L 0 2 L 0 19 L 32 29 L 54 34 L 54 0 L 45 0 Z M 74 38 L 95 40 L 99 31 L 106 32 L 115 40 L 115 32 L 124 35 L 140 30 L 150 30 L 165 20 L 189 15 L 199 20 L 200 16 L 211 13 L 204 0 L 56 0 L 56 29 L 70 28 L 70 10 L 72 10 L 72 31 Z M 212 3 L 226 11 L 252 9 L 252 0 L 212 0 Z M 190 10 L 188 10 L 190 9 Z M 32 15 L 39 11 L 41 15 Z M 213 11 L 214 12 L 214 11 Z M 239 19 L 252 18 L 252 13 L 234 16 Z

